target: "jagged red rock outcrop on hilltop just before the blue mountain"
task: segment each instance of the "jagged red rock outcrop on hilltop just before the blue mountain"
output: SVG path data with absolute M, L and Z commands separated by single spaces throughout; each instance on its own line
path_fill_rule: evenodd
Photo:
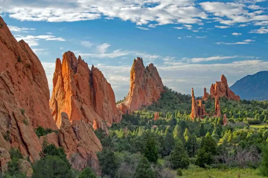
M 235 95 L 235 93 L 230 90 L 227 84 L 227 79 L 224 75 L 221 75 L 221 81 L 216 82 L 215 84 L 211 84 L 210 87 L 210 95 L 213 98 L 217 97 L 223 97 L 225 96 L 226 98 L 233 99 L 233 100 L 240 100 L 240 97 L 238 95 Z M 204 93 L 204 96 L 202 99 L 206 100 L 208 95 Z

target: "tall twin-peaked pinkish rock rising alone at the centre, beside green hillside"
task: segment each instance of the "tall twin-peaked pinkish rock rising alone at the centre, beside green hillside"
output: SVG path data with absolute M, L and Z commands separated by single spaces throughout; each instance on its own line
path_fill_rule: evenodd
M 142 58 L 137 57 L 133 61 L 129 92 L 123 103 L 131 111 L 136 111 L 157 101 L 163 87 L 157 68 L 152 63 L 144 67 Z

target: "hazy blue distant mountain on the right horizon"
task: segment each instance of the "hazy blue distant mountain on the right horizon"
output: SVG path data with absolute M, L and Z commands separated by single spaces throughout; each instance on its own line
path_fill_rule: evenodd
M 230 89 L 247 100 L 268 99 L 268 71 L 260 71 L 237 80 Z

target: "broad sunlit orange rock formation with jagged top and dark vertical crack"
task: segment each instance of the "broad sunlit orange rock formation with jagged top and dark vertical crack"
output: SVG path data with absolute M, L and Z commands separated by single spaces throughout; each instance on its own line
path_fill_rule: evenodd
M 108 126 L 121 119 L 113 89 L 102 72 L 93 65 L 90 70 L 80 56 L 77 60 L 70 51 L 64 53 L 62 63 L 56 60 L 49 106 L 58 127 L 61 112 L 68 114 L 70 122 L 82 119 L 91 125 L 94 118 L 106 121 Z

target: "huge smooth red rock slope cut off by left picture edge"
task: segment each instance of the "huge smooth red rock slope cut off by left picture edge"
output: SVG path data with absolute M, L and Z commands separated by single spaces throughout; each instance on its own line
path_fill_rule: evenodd
M 17 42 L 0 17 L 0 145 L 40 158 L 42 143 L 34 127 L 57 129 L 49 110 L 49 87 L 38 57 L 23 40 Z

